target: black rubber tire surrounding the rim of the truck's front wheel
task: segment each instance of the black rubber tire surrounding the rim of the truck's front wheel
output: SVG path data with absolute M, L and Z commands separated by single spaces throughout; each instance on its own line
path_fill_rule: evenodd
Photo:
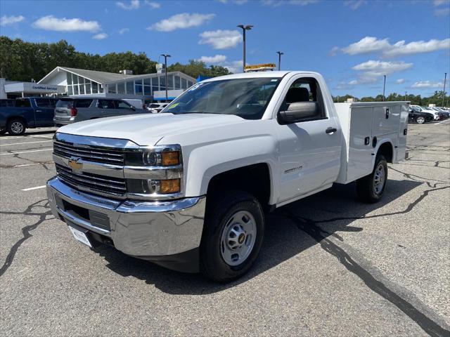
M 247 258 L 238 265 L 229 265 L 222 251 L 223 235 L 230 232 L 232 216 L 248 212 L 255 220 L 256 235 L 253 237 L 252 249 L 248 250 Z M 251 220 L 250 220 L 251 221 Z M 245 234 L 248 234 L 245 232 Z M 245 237 L 245 235 L 244 235 Z M 200 272 L 215 282 L 231 282 L 238 279 L 255 263 L 264 239 L 264 213 L 255 197 L 247 192 L 220 192 L 207 201 L 205 227 L 200 244 Z M 236 242 L 240 242 L 240 237 Z M 246 237 L 241 246 L 245 245 Z M 244 247 L 245 248 L 245 247 Z M 231 251 L 229 249 L 229 251 Z M 236 254 L 235 254 L 236 255 Z M 243 254 L 244 256 L 245 254 Z M 239 261 L 237 260 L 236 263 Z

